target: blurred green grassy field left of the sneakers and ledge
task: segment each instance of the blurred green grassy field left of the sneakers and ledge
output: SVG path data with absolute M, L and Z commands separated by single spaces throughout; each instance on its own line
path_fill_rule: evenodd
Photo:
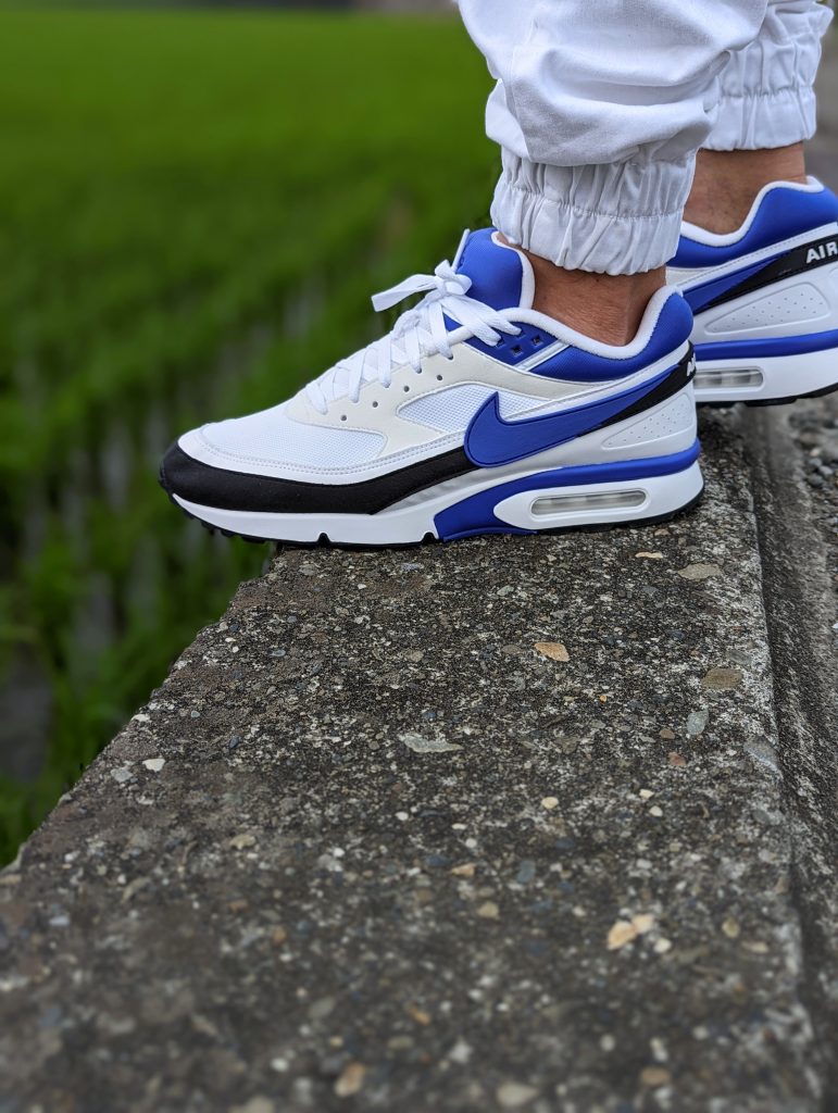
M 455 20 L 0 12 L 0 860 L 265 559 L 160 452 L 484 219 L 487 87 Z

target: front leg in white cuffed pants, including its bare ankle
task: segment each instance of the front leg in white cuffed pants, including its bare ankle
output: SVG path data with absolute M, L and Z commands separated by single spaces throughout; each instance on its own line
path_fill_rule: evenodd
M 676 250 L 714 82 L 765 0 L 460 7 L 497 78 L 492 217 L 528 253 L 539 308 L 625 343 Z

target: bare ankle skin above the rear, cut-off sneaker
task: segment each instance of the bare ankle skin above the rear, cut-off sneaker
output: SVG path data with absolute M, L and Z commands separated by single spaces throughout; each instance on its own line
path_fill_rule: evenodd
M 708 232 L 736 232 L 769 181 L 806 181 L 801 142 L 772 150 L 700 150 L 684 219 Z

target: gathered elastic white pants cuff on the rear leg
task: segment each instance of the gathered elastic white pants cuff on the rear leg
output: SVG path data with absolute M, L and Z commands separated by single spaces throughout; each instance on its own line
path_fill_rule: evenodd
M 815 135 L 815 92 L 789 86 L 772 92 L 722 97 L 708 150 L 767 150 Z

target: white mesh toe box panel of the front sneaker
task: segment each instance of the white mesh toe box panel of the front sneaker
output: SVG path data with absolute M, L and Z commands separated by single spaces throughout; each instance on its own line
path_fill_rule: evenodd
M 299 467 L 351 467 L 374 460 L 381 451 L 382 433 L 304 425 L 286 414 L 286 405 L 205 425 L 201 436 L 228 457 Z

